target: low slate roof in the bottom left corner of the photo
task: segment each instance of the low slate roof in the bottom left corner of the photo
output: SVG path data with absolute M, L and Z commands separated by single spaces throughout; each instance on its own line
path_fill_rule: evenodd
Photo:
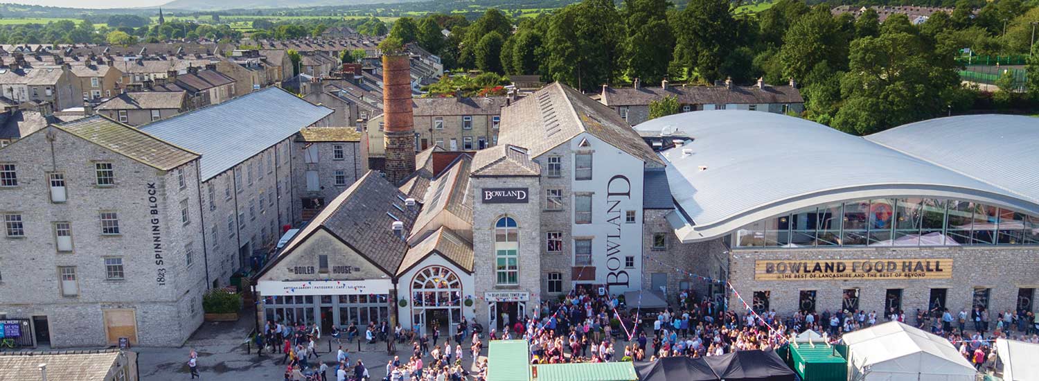
M 118 356 L 118 350 L 0 353 L 0 381 L 43 380 L 41 363 L 48 364 L 48 380 L 105 381 Z

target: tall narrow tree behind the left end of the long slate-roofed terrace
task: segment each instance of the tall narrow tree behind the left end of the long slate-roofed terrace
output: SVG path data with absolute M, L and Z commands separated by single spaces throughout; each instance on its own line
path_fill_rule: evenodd
M 667 0 L 624 0 L 624 73 L 628 78 L 659 82 L 667 76 L 674 37 L 667 25 Z

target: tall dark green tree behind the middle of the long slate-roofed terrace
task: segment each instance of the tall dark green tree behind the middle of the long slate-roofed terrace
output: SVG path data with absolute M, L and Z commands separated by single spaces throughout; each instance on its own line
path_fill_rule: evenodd
M 692 69 L 702 82 L 723 78 L 720 69 L 736 34 L 735 25 L 727 0 L 690 0 L 678 22 L 672 23 L 676 64 Z

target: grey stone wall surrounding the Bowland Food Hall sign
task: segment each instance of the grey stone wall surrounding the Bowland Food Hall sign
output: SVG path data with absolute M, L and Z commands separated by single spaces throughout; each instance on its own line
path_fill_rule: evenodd
M 754 262 L 761 260 L 872 260 L 952 258 L 952 277 L 948 279 L 862 279 L 862 280 L 755 280 Z M 885 307 L 886 291 L 902 290 L 902 309 L 911 316 L 916 308 L 930 306 L 932 289 L 947 289 L 945 307 L 953 311 L 971 308 L 974 291 L 990 289 L 989 309 L 1015 310 L 1018 289 L 1039 288 L 1039 248 L 1037 247 L 920 247 L 920 248 L 832 248 L 832 249 L 737 249 L 729 255 L 729 281 L 750 302 L 754 292 L 768 291 L 769 307 L 783 316 L 798 309 L 801 291 L 816 291 L 816 309 L 830 311 L 843 305 L 843 290 L 858 289 L 859 309 Z M 731 295 L 729 303 L 734 303 Z M 1034 308 L 1034 307 L 1033 307 Z

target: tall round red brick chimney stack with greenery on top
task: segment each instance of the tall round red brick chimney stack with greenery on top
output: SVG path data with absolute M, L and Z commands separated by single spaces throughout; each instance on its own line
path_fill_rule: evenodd
M 382 56 L 382 119 L 387 180 L 398 184 L 415 172 L 411 61 L 406 54 Z

